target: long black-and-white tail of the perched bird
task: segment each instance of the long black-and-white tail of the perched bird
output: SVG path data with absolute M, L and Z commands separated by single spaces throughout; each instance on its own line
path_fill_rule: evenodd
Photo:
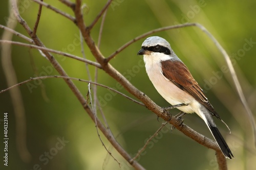
M 200 110 L 201 110 L 200 117 L 204 120 L 204 122 L 207 125 L 207 127 L 209 128 L 212 136 L 214 136 L 214 138 L 217 141 L 223 155 L 226 158 L 232 159 L 233 154 L 230 151 L 226 141 L 224 140 L 223 136 L 221 135 L 219 129 L 216 126 L 216 124 L 214 123 L 214 119 L 212 118 L 210 112 L 204 106 L 202 106 L 200 108 Z

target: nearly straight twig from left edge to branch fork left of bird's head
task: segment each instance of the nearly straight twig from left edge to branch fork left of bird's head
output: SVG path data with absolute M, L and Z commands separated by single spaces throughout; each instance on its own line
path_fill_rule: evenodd
M 52 50 L 52 49 L 47 48 L 47 47 L 41 47 L 41 46 L 37 46 L 37 45 L 26 44 L 26 43 L 23 43 L 23 42 L 8 41 L 8 40 L 0 40 L 0 43 L 9 43 L 9 44 L 26 46 L 26 47 L 30 47 L 30 48 L 36 48 L 36 49 L 41 50 L 41 51 L 46 51 L 46 52 L 66 56 L 66 57 L 69 57 L 69 58 L 76 59 L 78 61 L 82 61 L 84 63 L 88 63 L 88 64 L 93 65 L 95 67 L 101 68 L 101 65 L 99 63 L 93 62 L 91 60 L 83 59 L 81 57 L 78 57 L 78 56 L 75 56 L 75 55 L 72 55 L 72 54 L 69 54 L 69 53 L 64 53 L 64 52 Z

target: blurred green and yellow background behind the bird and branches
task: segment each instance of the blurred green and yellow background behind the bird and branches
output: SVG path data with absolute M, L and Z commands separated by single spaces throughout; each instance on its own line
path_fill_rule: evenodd
M 30 0 L 19 2 L 22 17 L 33 28 L 38 5 Z M 59 1 L 44 2 L 73 15 L 72 10 Z M 83 1 L 83 3 L 86 4 L 84 20 L 89 25 L 106 1 Z M 1 1 L 0 6 L 0 23 L 6 25 L 8 1 Z M 255 8 L 256 1 L 253 0 L 114 0 L 106 14 L 100 50 L 105 57 L 108 57 L 122 44 L 147 31 L 185 22 L 201 23 L 229 54 L 255 117 Z M 100 21 L 91 32 L 96 43 Z M 19 24 L 15 30 L 27 35 Z M 3 30 L 0 30 L 0 33 L 2 35 Z M 82 57 L 77 27 L 70 20 L 45 7 L 42 9 L 37 35 L 49 48 Z M 228 168 L 255 168 L 256 152 L 250 123 L 233 85 L 230 72 L 226 69 L 226 62 L 214 43 L 201 30 L 194 27 L 163 31 L 153 35 L 164 37 L 169 41 L 173 50 L 204 89 L 211 104 L 229 125 L 231 134 L 228 133 L 225 125 L 216 119 L 235 157 L 233 160 L 227 160 Z M 13 36 L 13 40 L 25 42 L 16 36 Z M 142 57 L 137 56 L 143 40 L 127 47 L 110 63 L 159 106 L 168 106 L 148 80 Z M 95 61 L 86 45 L 84 51 L 88 59 Z M 89 80 L 84 63 L 54 56 L 70 77 Z M 0 62 L 0 89 L 3 90 L 8 86 L 2 60 Z M 51 64 L 37 50 L 23 46 L 12 45 L 12 64 L 18 82 L 37 75 L 57 75 L 55 70 L 51 70 Z M 95 68 L 89 66 L 89 70 L 94 80 Z M 98 82 L 113 88 L 119 87 L 116 81 L 102 70 L 98 70 Z M 102 147 L 95 124 L 63 80 L 46 79 L 42 82 L 30 83 L 19 87 L 26 113 L 27 136 L 24 137 L 27 139 L 26 145 L 31 154 L 29 162 L 22 161 L 16 148 L 16 142 L 19 141 L 16 141 L 15 126 L 19 119 L 14 116 L 10 94 L 8 91 L 0 94 L 1 141 L 4 131 L 4 112 L 8 112 L 9 120 L 9 166 L 4 166 L 1 160 L 0 166 L 4 167 L 3 169 L 120 169 L 118 163 Z M 88 84 L 82 82 L 75 84 L 85 96 L 88 92 Z M 119 91 L 131 96 L 123 88 L 119 88 Z M 133 156 L 163 123 L 162 119 L 158 122 L 156 115 L 146 108 L 102 87 L 98 87 L 97 96 L 111 130 L 118 136 L 118 142 Z M 172 110 L 171 113 L 177 114 L 178 110 Z M 184 119 L 186 125 L 212 138 L 199 116 L 189 114 Z M 121 169 L 133 169 L 101 133 L 100 136 L 106 147 L 121 163 Z M 3 159 L 3 142 L 0 146 L 1 159 Z M 50 153 L 49 156 L 47 153 Z M 178 130 L 171 131 L 169 125 L 166 125 L 150 142 L 138 161 L 146 169 L 218 169 L 214 151 L 184 136 Z

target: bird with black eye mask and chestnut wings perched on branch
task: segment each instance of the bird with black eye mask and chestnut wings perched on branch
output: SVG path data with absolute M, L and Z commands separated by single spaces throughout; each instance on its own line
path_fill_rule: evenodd
M 148 37 L 137 55 L 143 55 L 148 78 L 158 93 L 172 106 L 180 106 L 177 109 L 182 112 L 197 113 L 214 136 L 223 155 L 232 159 L 233 154 L 212 117 L 222 119 L 169 42 L 159 36 Z

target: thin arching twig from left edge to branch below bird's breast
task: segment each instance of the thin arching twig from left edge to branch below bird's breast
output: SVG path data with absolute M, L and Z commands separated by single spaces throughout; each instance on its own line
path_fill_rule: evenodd
M 105 86 L 105 85 L 103 85 L 103 84 L 99 84 L 99 83 L 96 83 L 96 82 L 92 82 L 92 81 L 89 81 L 89 80 L 77 79 L 77 78 L 67 77 L 67 76 L 41 76 L 41 77 L 30 78 L 29 80 L 26 80 L 26 81 L 17 83 L 17 84 L 15 84 L 15 85 L 11 86 L 11 87 L 8 87 L 7 89 L 1 90 L 0 93 L 6 92 L 6 91 L 8 91 L 8 90 L 10 90 L 10 89 L 12 89 L 12 88 L 14 88 L 14 87 L 21 86 L 21 85 L 26 84 L 26 83 L 28 83 L 28 82 L 30 82 L 30 81 L 33 81 L 33 80 L 39 80 L 39 79 L 43 80 L 43 79 L 47 79 L 47 78 L 62 78 L 62 79 L 66 79 L 66 80 L 76 80 L 76 81 L 80 81 L 80 82 L 86 82 L 86 83 L 95 84 L 95 85 L 97 85 L 97 86 L 104 87 L 104 88 L 106 88 L 106 89 L 109 89 L 109 90 L 111 90 L 111 91 L 114 91 L 115 93 L 124 96 L 124 98 L 129 99 L 129 100 L 131 100 L 132 102 L 137 103 L 137 104 L 139 104 L 139 105 L 141 105 L 141 106 L 144 106 L 143 103 L 138 102 L 138 101 L 136 101 L 136 100 L 130 98 L 129 96 L 127 96 L 127 95 L 125 95 L 125 94 L 123 94 L 123 93 L 117 91 L 117 90 L 114 89 L 114 88 L 111 88 L 111 87 L 108 87 L 108 86 Z

